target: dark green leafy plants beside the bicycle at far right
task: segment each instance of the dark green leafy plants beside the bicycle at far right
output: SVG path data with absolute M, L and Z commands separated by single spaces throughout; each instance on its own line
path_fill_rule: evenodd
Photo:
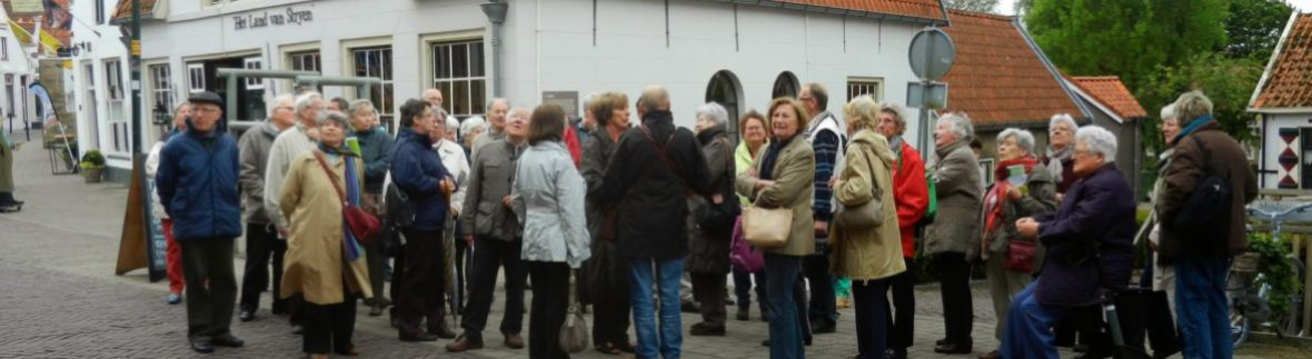
M 1248 252 L 1258 254 L 1257 271 L 1262 274 L 1262 278 L 1258 278 L 1254 284 L 1271 286 L 1266 300 L 1273 317 L 1279 318 L 1288 314 L 1290 299 L 1303 290 L 1298 269 L 1290 261 L 1294 257 L 1294 249 L 1288 235 L 1282 233 L 1279 240 L 1273 240 L 1271 235 L 1266 232 L 1249 233 Z

